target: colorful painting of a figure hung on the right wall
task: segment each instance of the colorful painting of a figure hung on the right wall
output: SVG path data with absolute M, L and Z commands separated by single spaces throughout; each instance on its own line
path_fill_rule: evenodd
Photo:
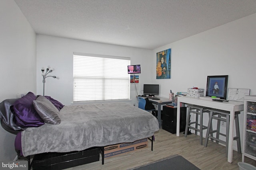
M 171 78 L 171 49 L 156 53 L 156 79 Z

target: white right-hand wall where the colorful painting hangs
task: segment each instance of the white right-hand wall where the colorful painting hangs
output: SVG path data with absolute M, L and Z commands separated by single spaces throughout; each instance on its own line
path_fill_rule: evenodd
M 160 95 L 168 97 L 170 89 L 187 92 L 187 88 L 206 89 L 207 76 L 228 75 L 228 88 L 247 88 L 256 94 L 256 14 L 182 39 L 154 50 L 154 54 L 171 48 L 171 79 L 156 80 Z M 156 67 L 156 55 L 152 66 Z M 204 92 L 205 94 L 205 92 Z M 192 116 L 191 119 L 195 120 Z M 243 135 L 243 112 L 239 115 L 240 137 Z M 208 117 L 204 117 L 207 125 Z M 221 127 L 221 131 L 224 128 Z M 203 136 L 205 136 L 204 131 Z M 236 149 L 236 145 L 233 147 Z

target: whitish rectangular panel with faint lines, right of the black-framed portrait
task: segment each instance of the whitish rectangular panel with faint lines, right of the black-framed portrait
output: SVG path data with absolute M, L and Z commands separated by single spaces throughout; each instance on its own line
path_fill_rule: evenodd
M 250 89 L 228 88 L 228 100 L 244 102 L 244 96 L 250 95 Z

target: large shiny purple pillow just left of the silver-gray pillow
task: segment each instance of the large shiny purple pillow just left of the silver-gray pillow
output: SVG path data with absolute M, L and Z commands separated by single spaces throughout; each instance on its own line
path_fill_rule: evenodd
M 16 125 L 20 127 L 39 127 L 44 124 L 44 121 L 34 109 L 33 100 L 36 100 L 36 96 L 32 92 L 28 92 L 10 106 Z

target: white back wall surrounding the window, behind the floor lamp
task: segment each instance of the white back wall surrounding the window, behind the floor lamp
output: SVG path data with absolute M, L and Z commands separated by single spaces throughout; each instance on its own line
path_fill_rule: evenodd
M 131 64 L 141 64 L 142 73 L 138 74 L 140 83 L 136 85 L 138 93 L 145 82 L 152 81 L 151 75 L 148 74 L 151 72 L 150 50 L 37 35 L 37 94 L 43 93 L 41 68 L 50 65 L 55 68 L 50 74 L 59 76 L 60 79 L 46 79 L 45 95 L 52 96 L 64 105 L 73 102 L 73 52 L 130 57 Z M 97 67 L 97 63 L 95 66 Z M 134 84 L 131 84 L 130 88 L 132 101 L 129 103 L 137 105 Z

